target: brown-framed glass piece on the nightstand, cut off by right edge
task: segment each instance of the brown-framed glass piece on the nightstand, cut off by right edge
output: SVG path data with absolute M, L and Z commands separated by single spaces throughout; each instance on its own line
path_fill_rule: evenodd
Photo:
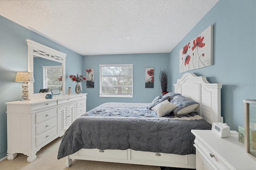
M 244 100 L 244 148 L 256 160 L 256 99 Z

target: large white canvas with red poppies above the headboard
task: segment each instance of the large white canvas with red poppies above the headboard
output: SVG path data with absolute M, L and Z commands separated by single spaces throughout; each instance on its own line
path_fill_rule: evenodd
M 180 73 L 212 65 L 213 25 L 180 50 Z

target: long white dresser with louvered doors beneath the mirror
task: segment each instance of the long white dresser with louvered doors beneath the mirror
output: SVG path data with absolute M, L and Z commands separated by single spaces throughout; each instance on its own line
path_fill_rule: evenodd
M 86 113 L 86 93 L 54 96 L 53 99 L 13 101 L 7 105 L 7 159 L 17 153 L 36 159 L 36 152 L 63 136 L 65 129 Z

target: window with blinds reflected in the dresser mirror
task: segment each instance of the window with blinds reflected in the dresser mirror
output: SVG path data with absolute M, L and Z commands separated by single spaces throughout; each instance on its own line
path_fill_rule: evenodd
M 43 66 L 44 89 L 62 88 L 62 66 Z

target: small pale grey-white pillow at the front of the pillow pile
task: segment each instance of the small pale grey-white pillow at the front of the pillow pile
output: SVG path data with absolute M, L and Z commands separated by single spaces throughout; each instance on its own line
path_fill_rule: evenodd
M 152 111 L 155 111 L 158 117 L 163 117 L 169 113 L 171 113 L 177 106 L 173 103 L 170 103 L 168 99 L 159 103 L 158 105 L 152 108 Z

